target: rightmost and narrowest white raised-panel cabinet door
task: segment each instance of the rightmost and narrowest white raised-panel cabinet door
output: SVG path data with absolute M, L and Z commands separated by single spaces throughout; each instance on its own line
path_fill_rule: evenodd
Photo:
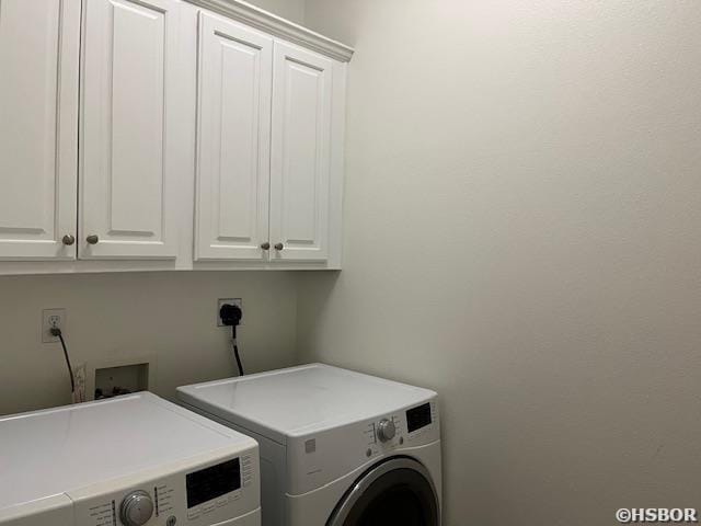
M 332 61 L 275 43 L 271 165 L 273 260 L 329 253 Z M 281 243 L 283 250 L 275 249 Z

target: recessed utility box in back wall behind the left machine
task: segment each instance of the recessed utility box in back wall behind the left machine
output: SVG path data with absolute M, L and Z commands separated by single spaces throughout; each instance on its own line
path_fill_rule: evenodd
M 85 365 L 88 400 L 112 398 L 156 387 L 156 356 L 119 356 Z

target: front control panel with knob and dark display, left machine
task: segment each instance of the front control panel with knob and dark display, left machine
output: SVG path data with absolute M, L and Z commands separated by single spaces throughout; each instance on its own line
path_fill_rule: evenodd
M 257 447 L 243 454 L 105 481 L 68 492 L 77 526 L 209 526 L 260 503 Z

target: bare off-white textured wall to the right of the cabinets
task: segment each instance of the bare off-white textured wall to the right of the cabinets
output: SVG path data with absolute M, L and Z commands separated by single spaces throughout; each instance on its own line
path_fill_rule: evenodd
M 450 526 L 701 506 L 701 2 L 306 9 L 357 53 L 303 359 L 439 391 Z

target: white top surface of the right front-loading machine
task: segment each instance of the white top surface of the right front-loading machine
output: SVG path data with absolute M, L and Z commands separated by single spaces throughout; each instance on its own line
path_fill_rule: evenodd
M 181 387 L 184 402 L 285 443 L 423 403 L 434 391 L 323 364 Z

